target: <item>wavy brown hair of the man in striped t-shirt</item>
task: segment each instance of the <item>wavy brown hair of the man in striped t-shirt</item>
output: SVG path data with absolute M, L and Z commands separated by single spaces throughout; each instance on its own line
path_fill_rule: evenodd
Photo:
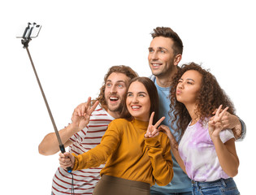
M 124 75 L 128 76 L 130 79 L 133 79 L 134 77 L 138 76 L 137 72 L 133 71 L 131 67 L 124 66 L 124 65 L 111 67 L 108 70 L 108 72 L 106 73 L 106 75 L 104 76 L 104 82 L 100 89 L 98 98 L 96 98 L 96 100 L 92 101 L 92 105 L 94 104 L 94 102 L 96 102 L 98 100 L 98 102 L 100 102 L 102 107 L 104 107 L 104 109 L 106 109 L 106 99 L 105 99 L 106 80 L 107 80 L 108 76 L 110 76 L 113 72 L 123 73 Z

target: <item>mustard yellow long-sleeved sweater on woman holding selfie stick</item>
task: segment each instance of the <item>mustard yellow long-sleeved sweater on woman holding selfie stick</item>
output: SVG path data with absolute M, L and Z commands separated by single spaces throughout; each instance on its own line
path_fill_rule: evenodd
M 166 134 L 145 138 L 148 122 L 115 119 L 102 141 L 92 150 L 76 156 L 73 170 L 106 163 L 101 175 L 167 185 L 173 177 L 171 147 Z

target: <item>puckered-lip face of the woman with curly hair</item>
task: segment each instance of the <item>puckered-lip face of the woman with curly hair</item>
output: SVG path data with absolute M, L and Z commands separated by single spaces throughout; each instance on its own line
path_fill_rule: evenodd
M 195 105 L 201 89 L 202 75 L 194 70 L 184 72 L 176 87 L 176 98 L 185 106 Z

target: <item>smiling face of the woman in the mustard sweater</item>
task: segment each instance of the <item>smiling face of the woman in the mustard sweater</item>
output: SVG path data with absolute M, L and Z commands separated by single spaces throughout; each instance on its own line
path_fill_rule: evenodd
M 134 119 L 149 121 L 150 119 L 150 96 L 145 86 L 134 81 L 127 93 L 126 106 Z

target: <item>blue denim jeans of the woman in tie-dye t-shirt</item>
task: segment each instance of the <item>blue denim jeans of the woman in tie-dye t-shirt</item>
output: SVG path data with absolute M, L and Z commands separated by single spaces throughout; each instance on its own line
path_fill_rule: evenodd
M 238 195 L 236 183 L 232 178 L 220 179 L 210 182 L 197 182 L 192 180 L 193 195 Z

